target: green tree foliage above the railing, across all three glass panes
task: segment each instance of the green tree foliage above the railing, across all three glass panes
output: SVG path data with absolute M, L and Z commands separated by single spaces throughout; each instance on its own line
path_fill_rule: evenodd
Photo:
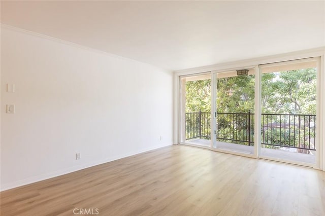
M 254 112 L 254 75 L 217 79 L 218 113 Z M 210 112 L 211 80 L 186 82 L 186 113 Z M 316 114 L 316 68 L 262 74 L 262 113 Z

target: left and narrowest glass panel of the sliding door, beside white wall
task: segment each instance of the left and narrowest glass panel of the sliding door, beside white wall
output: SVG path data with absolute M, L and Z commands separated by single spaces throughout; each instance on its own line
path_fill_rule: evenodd
M 180 143 L 210 148 L 211 73 L 180 78 Z

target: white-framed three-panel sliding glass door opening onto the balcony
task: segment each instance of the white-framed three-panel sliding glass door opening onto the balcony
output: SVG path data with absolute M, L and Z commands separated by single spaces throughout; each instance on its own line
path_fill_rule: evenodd
M 180 77 L 179 143 L 320 167 L 319 59 Z

